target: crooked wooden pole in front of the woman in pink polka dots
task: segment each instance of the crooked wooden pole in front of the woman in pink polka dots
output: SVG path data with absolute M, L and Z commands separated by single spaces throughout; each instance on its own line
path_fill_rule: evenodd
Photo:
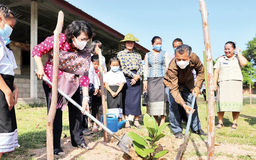
M 58 101 L 58 72 L 59 72 L 59 52 L 60 52 L 60 33 L 62 31 L 64 22 L 64 14 L 59 12 L 58 21 L 54 33 L 53 42 L 53 72 L 52 72 L 52 101 L 51 107 L 47 116 L 46 125 L 46 147 L 47 160 L 53 160 L 53 121 L 56 114 L 56 107 Z

